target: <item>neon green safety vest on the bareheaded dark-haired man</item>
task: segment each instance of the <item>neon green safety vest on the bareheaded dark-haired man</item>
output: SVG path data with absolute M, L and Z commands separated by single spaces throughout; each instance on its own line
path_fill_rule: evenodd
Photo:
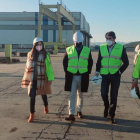
M 123 45 L 116 43 L 109 55 L 107 45 L 103 44 L 100 46 L 100 52 L 102 57 L 100 74 L 115 74 L 120 69 L 122 65 L 122 51 Z

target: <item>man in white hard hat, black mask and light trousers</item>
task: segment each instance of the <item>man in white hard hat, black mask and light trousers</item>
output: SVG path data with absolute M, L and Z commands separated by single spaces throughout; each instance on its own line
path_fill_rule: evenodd
M 90 48 L 83 46 L 83 35 L 76 32 L 73 35 L 74 45 L 66 49 L 63 59 L 65 71 L 65 91 L 69 94 L 69 116 L 67 121 L 75 121 L 75 106 L 77 99 L 77 116 L 83 118 L 83 92 L 88 91 L 89 74 L 91 73 L 93 60 Z

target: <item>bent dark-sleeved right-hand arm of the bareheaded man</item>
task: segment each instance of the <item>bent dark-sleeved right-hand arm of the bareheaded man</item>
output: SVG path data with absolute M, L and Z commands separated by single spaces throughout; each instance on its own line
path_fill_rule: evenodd
M 122 74 L 129 65 L 128 56 L 126 53 L 126 49 L 124 47 L 123 47 L 123 52 L 122 52 L 122 62 L 123 62 L 123 64 L 119 69 L 120 74 Z

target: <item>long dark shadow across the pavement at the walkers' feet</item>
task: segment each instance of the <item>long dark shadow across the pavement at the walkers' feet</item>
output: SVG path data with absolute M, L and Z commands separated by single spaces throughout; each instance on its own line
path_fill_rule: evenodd
M 61 118 L 64 121 L 48 121 L 48 120 L 36 120 L 34 123 L 38 124 L 54 124 L 54 125 L 67 125 L 69 123 L 65 121 L 64 118 Z M 86 120 L 86 121 L 84 121 Z M 106 121 L 108 124 L 102 124 L 101 122 L 89 122 L 92 121 Z M 88 122 L 87 122 L 88 121 Z M 99 116 L 86 116 L 84 115 L 83 119 L 76 119 L 74 123 L 72 123 L 71 127 L 77 128 L 93 128 L 93 129 L 101 129 L 101 130 L 109 130 L 109 131 L 116 131 L 116 132 L 129 132 L 129 133 L 137 133 L 140 134 L 140 121 L 135 120 L 124 120 L 124 119 L 116 119 L 116 124 L 111 124 L 109 119 Z

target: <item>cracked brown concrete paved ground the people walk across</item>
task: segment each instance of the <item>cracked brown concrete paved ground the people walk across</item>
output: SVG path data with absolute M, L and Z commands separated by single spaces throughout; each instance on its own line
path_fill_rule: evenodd
M 51 57 L 55 81 L 53 93 L 48 95 L 50 112 L 43 113 L 41 97 L 37 96 L 34 123 L 27 123 L 29 97 L 27 90 L 20 87 L 26 58 L 20 57 L 18 64 L 0 64 L 0 140 L 139 140 L 140 100 L 130 97 L 133 52 L 128 52 L 130 65 L 121 79 L 115 125 L 103 118 L 100 87 L 93 88 L 91 83 L 89 92 L 84 94 L 84 119 L 76 119 L 75 123 L 65 121 L 69 94 L 63 90 L 63 55 Z M 97 52 L 92 55 L 94 66 L 90 77 L 95 72 Z

